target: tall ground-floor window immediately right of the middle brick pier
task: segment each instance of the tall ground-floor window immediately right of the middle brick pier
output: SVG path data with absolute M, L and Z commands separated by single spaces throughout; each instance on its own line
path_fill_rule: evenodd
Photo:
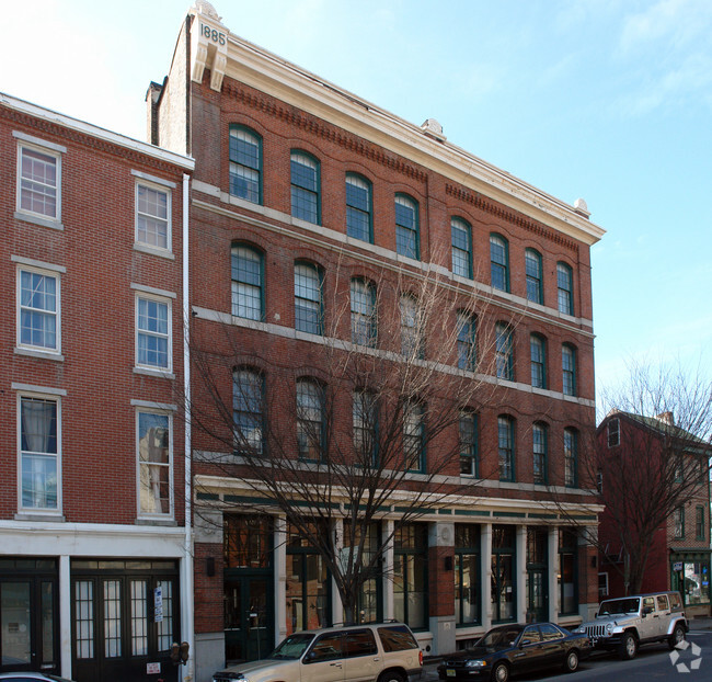
M 455 624 L 481 623 L 480 526 L 455 524 Z

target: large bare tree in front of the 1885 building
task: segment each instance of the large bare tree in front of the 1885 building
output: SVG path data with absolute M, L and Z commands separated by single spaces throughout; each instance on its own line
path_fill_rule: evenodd
M 400 528 L 464 492 L 459 461 L 473 454 L 472 420 L 512 348 L 495 338 L 489 297 L 435 268 L 340 275 L 324 276 L 325 317 L 319 302 L 297 304 L 311 343 L 297 333 L 267 346 L 260 325 L 194 334 L 188 408 L 203 470 L 239 479 L 286 518 L 321 555 L 352 622 Z M 305 355 L 285 356 L 295 348 Z M 486 476 L 469 474 L 468 487 Z M 374 545 L 368 528 L 383 519 L 391 531 Z

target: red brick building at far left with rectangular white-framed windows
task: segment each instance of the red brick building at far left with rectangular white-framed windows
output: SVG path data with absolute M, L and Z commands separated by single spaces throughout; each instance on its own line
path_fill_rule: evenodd
M 176 679 L 192 170 L 0 94 L 0 672 Z

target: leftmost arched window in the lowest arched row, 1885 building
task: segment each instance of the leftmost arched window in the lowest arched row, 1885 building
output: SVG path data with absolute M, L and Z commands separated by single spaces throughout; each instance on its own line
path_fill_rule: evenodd
M 246 367 L 232 373 L 232 423 L 238 453 L 264 451 L 264 378 Z

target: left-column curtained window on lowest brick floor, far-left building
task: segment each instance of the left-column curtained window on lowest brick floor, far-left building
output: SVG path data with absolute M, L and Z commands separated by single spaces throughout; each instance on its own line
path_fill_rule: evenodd
M 18 394 L 19 508 L 61 511 L 61 402 L 55 395 Z

